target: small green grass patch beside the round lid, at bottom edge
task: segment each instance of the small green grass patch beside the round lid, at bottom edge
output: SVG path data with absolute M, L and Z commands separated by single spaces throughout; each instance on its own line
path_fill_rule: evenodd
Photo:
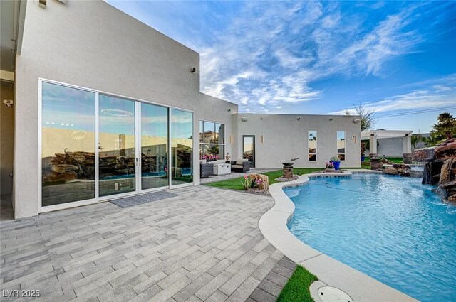
M 314 302 L 310 286 L 317 280 L 318 278 L 307 269 L 300 265 L 296 266 L 296 270 L 286 282 L 277 302 Z

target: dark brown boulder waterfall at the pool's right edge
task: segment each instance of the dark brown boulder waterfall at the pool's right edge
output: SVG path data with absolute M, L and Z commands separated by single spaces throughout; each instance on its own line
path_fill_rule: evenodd
M 425 161 L 423 184 L 438 185 L 436 193 L 456 201 L 456 139 L 447 139 L 435 147 L 416 149 L 413 161 Z

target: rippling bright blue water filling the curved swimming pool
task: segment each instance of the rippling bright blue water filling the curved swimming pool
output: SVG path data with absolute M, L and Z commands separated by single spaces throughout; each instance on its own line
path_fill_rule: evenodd
M 456 301 L 456 206 L 420 178 L 314 178 L 285 189 L 289 229 L 314 249 L 420 301 Z

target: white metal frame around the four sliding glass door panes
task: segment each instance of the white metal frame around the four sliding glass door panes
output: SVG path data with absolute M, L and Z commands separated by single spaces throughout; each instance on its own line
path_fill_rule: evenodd
M 78 90 L 84 90 L 88 92 L 94 92 L 95 93 L 95 198 L 90 198 L 87 200 L 77 200 L 73 201 L 70 203 L 60 203 L 57 205 L 42 205 L 42 106 L 43 106 L 43 91 L 42 91 L 42 83 L 47 82 L 50 84 L 54 85 L 61 85 L 64 87 L 69 87 L 69 88 L 74 88 Z M 100 141 L 100 135 L 99 135 L 99 129 L 100 129 L 100 117 L 99 117 L 99 96 L 100 94 L 102 95 L 108 95 L 112 97 L 119 97 L 123 99 L 127 99 L 130 101 L 135 102 L 135 191 L 133 192 L 127 192 L 127 193 L 120 193 L 120 194 L 115 194 L 115 195 L 107 195 L 107 196 L 99 196 L 100 195 L 100 184 L 99 184 L 99 178 L 100 178 L 100 150 L 98 149 L 98 143 Z M 182 184 L 177 184 L 177 185 L 172 185 L 172 173 L 168 172 L 168 185 L 158 187 L 158 188 L 150 188 L 150 189 L 145 189 L 142 190 L 141 188 L 141 104 L 152 104 L 160 107 L 165 107 L 167 108 L 167 117 L 168 117 L 168 131 L 167 131 L 167 166 L 168 170 L 170 170 L 170 165 L 171 165 L 171 118 L 172 118 L 172 109 L 177 109 L 183 112 L 190 112 L 192 114 L 192 182 L 189 183 L 182 183 Z M 91 205 L 94 203 L 101 203 L 105 202 L 107 200 L 114 200 L 118 198 L 125 198 L 125 197 L 131 197 L 135 195 L 140 195 L 143 193 L 150 193 L 154 191 L 160 191 L 160 190 L 170 190 L 174 188 L 184 188 L 187 186 L 192 186 L 195 185 L 195 112 L 192 110 L 188 109 L 182 109 L 179 107 L 174 107 L 170 105 L 165 105 L 165 104 L 159 104 L 155 102 L 150 102 L 150 101 L 145 101 L 143 99 L 137 99 L 134 97 L 127 97 L 124 95 L 116 95 L 110 92 L 103 92 L 101 90 L 95 90 L 92 88 L 88 87 L 82 87 L 82 86 L 77 86 L 77 85 L 71 85 L 66 82 L 58 82 L 56 80 L 48 80 L 45 78 L 38 77 L 38 127 L 37 127 L 37 137 L 38 137 L 38 212 L 51 212 L 54 210 L 64 210 L 68 209 L 71 207 L 79 207 L 83 205 Z

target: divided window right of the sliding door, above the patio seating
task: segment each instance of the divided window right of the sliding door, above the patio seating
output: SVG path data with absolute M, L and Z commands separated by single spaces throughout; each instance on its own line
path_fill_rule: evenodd
M 225 125 L 199 121 L 199 159 L 217 160 L 225 157 Z

